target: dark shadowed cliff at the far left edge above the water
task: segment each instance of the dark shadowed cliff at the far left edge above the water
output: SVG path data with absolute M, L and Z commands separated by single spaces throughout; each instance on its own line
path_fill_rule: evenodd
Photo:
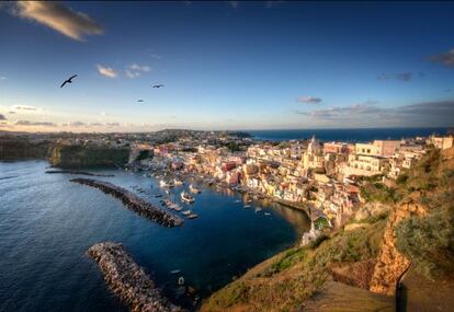
M 0 138 L 0 160 L 45 159 L 50 142 L 32 143 L 21 138 Z

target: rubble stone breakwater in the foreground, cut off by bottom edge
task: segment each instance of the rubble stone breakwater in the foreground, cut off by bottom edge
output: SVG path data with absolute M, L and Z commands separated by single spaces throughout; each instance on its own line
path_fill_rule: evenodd
M 91 246 L 87 254 L 98 263 L 109 287 L 130 311 L 184 311 L 161 294 L 144 269 L 126 253 L 123 244 L 99 243 Z

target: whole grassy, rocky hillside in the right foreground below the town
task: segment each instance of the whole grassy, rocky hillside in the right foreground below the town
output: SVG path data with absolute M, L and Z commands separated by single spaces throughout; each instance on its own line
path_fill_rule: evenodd
M 386 189 L 393 199 L 376 197 L 385 207 L 379 213 L 356 213 L 368 217 L 259 264 L 215 292 L 202 311 L 393 311 L 396 281 L 410 263 L 418 276 L 443 278 L 451 289 L 453 155 L 453 149 L 430 150 Z

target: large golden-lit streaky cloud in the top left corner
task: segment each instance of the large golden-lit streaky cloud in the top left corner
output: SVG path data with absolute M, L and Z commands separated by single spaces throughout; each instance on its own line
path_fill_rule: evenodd
M 80 42 L 86 35 L 101 35 L 104 32 L 89 15 L 58 2 L 18 1 L 13 14 L 46 25 Z

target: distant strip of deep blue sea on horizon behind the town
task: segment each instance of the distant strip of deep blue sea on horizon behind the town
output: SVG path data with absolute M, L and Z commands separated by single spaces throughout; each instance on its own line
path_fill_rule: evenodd
M 248 130 L 257 140 L 296 140 L 316 136 L 322 141 L 367 142 L 372 140 L 399 140 L 432 134 L 445 135 L 447 128 L 370 128 L 370 129 L 296 129 L 296 130 Z

